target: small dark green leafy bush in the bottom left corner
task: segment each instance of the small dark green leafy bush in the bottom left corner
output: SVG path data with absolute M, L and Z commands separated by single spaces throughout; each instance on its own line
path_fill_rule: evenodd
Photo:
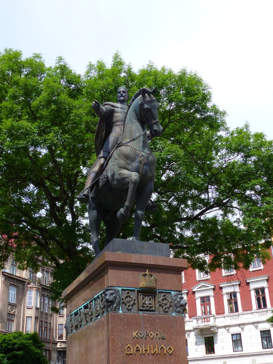
M 0 335 L 0 364 L 47 364 L 37 332 Z

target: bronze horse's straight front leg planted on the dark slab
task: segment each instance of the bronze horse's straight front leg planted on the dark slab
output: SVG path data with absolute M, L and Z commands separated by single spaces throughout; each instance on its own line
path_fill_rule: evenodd
M 135 225 L 133 231 L 133 240 L 139 240 L 139 232 L 142 220 L 144 218 L 144 211 L 150 197 L 153 193 L 153 180 L 150 180 L 137 194 L 136 197 L 136 212 L 135 212 Z

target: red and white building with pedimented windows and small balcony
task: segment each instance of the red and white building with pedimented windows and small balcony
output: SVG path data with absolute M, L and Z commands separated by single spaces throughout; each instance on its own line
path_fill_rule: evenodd
M 273 363 L 273 250 L 249 270 L 183 272 L 189 363 Z

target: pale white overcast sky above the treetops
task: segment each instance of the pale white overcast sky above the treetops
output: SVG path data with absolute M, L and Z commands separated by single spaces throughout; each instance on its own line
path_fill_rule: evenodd
M 152 60 L 186 67 L 210 85 L 231 128 L 246 120 L 273 139 L 273 1 L 0 0 L 0 50 L 63 56 L 78 73 L 111 63 L 115 51 L 138 68 Z M 101 100 L 104 101 L 104 100 Z

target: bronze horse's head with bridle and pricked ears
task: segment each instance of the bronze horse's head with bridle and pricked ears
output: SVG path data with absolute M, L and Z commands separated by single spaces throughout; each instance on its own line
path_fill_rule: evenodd
M 148 125 L 150 133 L 153 137 L 159 137 L 163 128 L 158 120 L 158 102 L 154 97 L 156 88 L 152 91 L 143 87 L 140 96 L 140 115 L 142 121 Z

